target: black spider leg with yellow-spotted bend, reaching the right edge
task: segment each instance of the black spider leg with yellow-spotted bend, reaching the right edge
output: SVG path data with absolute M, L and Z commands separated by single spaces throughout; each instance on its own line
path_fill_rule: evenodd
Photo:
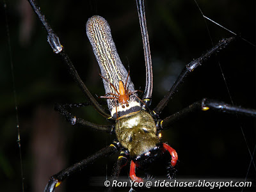
M 171 116 L 164 118 L 164 120 L 159 120 L 157 122 L 157 129 L 168 129 L 173 122 L 176 122 L 180 118 L 189 113 L 196 111 L 196 110 L 207 111 L 209 109 L 220 111 L 223 113 L 234 113 L 234 114 L 241 114 L 247 116 L 256 116 L 256 109 L 248 109 L 248 108 L 241 108 L 239 106 L 233 106 L 230 104 L 226 104 L 222 101 L 216 101 L 212 99 L 202 99 L 197 102 L 194 102 L 187 108 L 180 110 L 177 113 L 174 113 Z

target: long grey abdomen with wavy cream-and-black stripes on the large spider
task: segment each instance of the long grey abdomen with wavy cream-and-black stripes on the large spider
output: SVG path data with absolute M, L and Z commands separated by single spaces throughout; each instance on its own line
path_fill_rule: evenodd
M 86 23 L 86 34 L 92 44 L 93 52 L 98 61 L 101 76 L 104 79 L 103 84 L 106 94 L 111 93 L 111 96 L 118 94 L 120 82 L 127 84 L 127 87 L 125 87 L 127 90 L 135 92 L 131 77 L 128 76 L 128 72 L 116 51 L 116 46 L 107 20 L 99 15 L 91 17 Z M 122 90 L 124 90 L 124 88 Z M 120 95 L 127 95 L 127 93 L 122 92 Z M 124 101 L 125 104 L 127 104 L 125 100 L 137 102 L 136 94 L 129 95 L 129 97 L 125 97 L 122 100 L 122 102 Z M 108 99 L 107 102 L 109 111 L 111 111 L 111 116 L 113 117 L 114 113 L 116 113 L 116 100 Z M 116 118 L 117 117 L 120 116 L 116 115 Z

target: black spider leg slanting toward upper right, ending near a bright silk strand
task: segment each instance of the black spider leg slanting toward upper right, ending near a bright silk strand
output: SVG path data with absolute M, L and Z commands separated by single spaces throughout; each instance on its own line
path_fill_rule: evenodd
M 186 67 L 184 67 L 179 77 L 173 84 L 172 88 L 170 88 L 169 92 L 164 96 L 164 98 L 159 102 L 159 104 L 157 104 L 156 108 L 154 109 L 155 115 L 159 115 L 161 111 L 163 111 L 166 104 L 168 104 L 169 100 L 172 98 L 173 93 L 177 92 L 180 84 L 183 83 L 185 77 L 189 74 L 189 72 L 193 72 L 193 70 L 196 67 L 204 64 L 204 62 L 207 61 L 209 57 L 212 56 L 212 54 L 216 54 L 216 52 L 220 51 L 225 46 L 230 44 L 230 42 L 232 42 L 234 39 L 235 39 L 234 37 L 230 37 L 230 38 L 224 38 L 220 40 L 220 42 L 218 42 L 217 45 L 212 47 L 211 50 L 207 51 L 205 54 L 200 56 L 200 58 L 197 58 L 196 60 L 193 60 L 188 65 L 186 65 Z

